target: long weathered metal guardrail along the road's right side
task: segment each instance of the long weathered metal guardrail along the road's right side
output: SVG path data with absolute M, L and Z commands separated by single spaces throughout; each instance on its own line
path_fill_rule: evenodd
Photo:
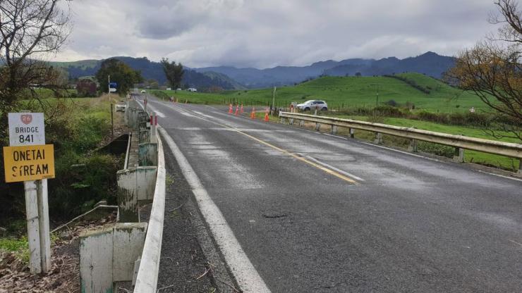
M 279 112 L 279 117 L 304 120 L 337 127 L 347 127 L 357 130 L 366 130 L 408 139 L 416 139 L 423 142 L 433 142 L 435 144 L 455 146 L 461 149 L 471 149 L 473 151 L 483 151 L 489 154 L 497 154 L 501 156 L 522 159 L 522 144 L 514 144 L 511 142 L 497 142 L 490 139 L 480 139 L 461 135 L 449 135 L 442 132 L 418 130 L 411 127 L 399 127 L 351 119 L 314 116 L 302 113 Z

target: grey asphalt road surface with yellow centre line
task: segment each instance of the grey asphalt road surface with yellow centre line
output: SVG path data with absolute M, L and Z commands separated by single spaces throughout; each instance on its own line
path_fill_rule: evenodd
M 272 292 L 522 292 L 522 181 L 148 105 Z

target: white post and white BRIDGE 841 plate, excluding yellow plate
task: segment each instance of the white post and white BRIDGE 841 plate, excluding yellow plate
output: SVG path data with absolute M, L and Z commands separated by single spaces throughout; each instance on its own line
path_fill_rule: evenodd
M 8 113 L 10 146 L 45 144 L 43 113 Z M 23 182 L 31 273 L 47 273 L 51 269 L 51 238 L 47 179 Z

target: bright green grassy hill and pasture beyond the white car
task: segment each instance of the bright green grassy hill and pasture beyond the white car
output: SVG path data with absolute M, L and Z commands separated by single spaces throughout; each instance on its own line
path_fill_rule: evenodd
M 414 104 L 417 110 L 445 113 L 468 111 L 472 106 L 478 110 L 487 108 L 478 96 L 449 87 L 431 77 L 418 73 L 404 73 L 399 76 L 413 80 L 417 85 L 429 89 L 430 93 L 426 94 L 406 82 L 391 77 L 321 77 L 300 85 L 277 88 L 276 105 L 287 106 L 291 101 L 301 103 L 308 99 L 323 99 L 332 109 L 373 107 L 376 104 L 378 87 L 379 104 L 394 100 L 399 105 Z M 249 89 L 219 94 L 156 92 L 162 92 L 165 97 L 176 96 L 180 101 L 187 100 L 193 104 L 229 104 L 231 101 L 243 102 L 245 105 L 272 103 L 272 89 Z

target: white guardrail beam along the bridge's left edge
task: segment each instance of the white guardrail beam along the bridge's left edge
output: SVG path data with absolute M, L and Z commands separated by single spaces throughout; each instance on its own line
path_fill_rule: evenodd
M 158 165 L 156 186 L 150 220 L 147 227 L 147 235 L 136 277 L 135 293 L 156 293 L 159 274 L 159 259 L 162 251 L 163 221 L 165 212 L 165 157 L 161 139 L 158 144 Z

